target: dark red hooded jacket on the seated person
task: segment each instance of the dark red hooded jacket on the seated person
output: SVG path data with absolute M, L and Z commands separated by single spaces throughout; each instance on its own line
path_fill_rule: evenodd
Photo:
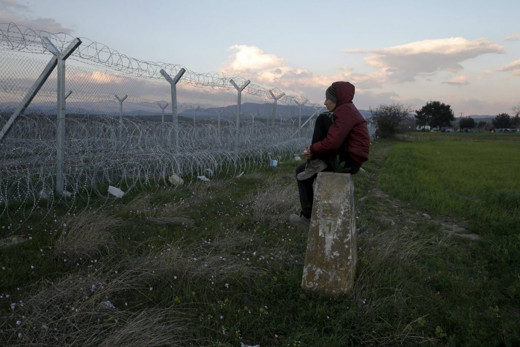
M 346 141 L 347 150 L 360 165 L 368 160 L 370 135 L 367 121 L 352 103 L 354 85 L 349 82 L 332 83 L 336 89 L 336 108 L 332 115 L 332 123 L 327 137 L 310 146 L 310 151 L 316 154 L 333 152 Z

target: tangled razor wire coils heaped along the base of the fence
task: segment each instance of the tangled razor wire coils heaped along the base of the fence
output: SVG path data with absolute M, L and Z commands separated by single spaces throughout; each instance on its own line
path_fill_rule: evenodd
M 0 115 L 0 121 L 2 120 Z M 118 134 L 119 124 L 123 132 Z M 233 148 L 235 124 L 204 120 L 194 126 L 180 121 L 179 147 L 172 141 L 174 127 L 168 122 L 112 117 L 67 119 L 64 191 L 55 195 L 56 119 L 44 115 L 21 115 L 0 142 L 0 218 L 27 220 L 32 212 L 57 204 L 72 211 L 82 201 L 88 206 L 113 201 L 109 186 L 125 192 L 161 186 L 175 189 L 171 178 L 186 184 L 198 177 L 229 179 L 265 166 L 268 159 L 294 156 L 308 143 L 310 128 L 293 137 L 294 123 L 267 127 L 258 121 L 242 123 L 240 144 Z M 99 201 L 99 198 L 105 199 Z M 16 209 L 8 208 L 15 206 Z

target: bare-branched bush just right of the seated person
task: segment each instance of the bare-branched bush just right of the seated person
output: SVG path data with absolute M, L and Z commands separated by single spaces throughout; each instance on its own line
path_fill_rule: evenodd
M 401 104 L 379 105 L 375 109 L 370 108 L 372 121 L 378 130 L 376 134 L 381 138 L 392 137 L 399 132 L 399 124 L 404 122 L 412 108 Z

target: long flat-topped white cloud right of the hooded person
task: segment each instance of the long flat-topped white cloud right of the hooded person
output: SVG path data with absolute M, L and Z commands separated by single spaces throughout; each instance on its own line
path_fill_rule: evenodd
M 461 62 L 486 53 L 503 53 L 504 47 L 479 38 L 424 40 L 382 49 L 345 49 L 345 53 L 373 54 L 365 61 L 380 69 L 381 82 L 412 82 L 418 75 L 438 71 L 458 72 Z

